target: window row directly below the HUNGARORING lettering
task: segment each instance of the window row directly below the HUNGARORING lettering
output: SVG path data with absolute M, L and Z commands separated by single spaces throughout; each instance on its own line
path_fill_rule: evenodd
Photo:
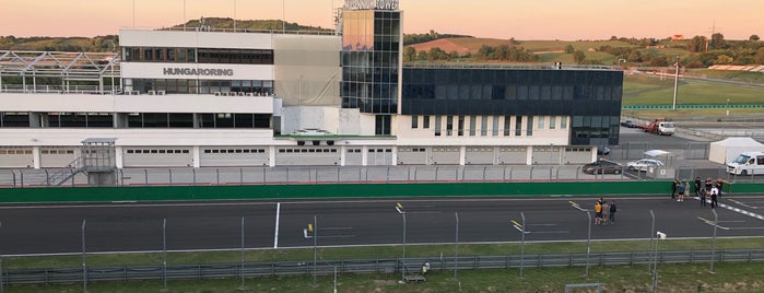
M 164 91 L 179 94 L 244 93 L 252 96 L 273 95 L 273 81 L 261 80 L 132 80 L 133 91 Z

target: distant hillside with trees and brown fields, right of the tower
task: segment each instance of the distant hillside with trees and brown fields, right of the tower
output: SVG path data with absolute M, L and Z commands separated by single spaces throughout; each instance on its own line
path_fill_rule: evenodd
M 697 51 L 698 38 L 611 38 L 609 40 L 515 40 L 475 37 L 438 38 L 405 46 L 403 60 L 416 61 L 508 61 L 670 67 L 680 57 L 684 68 L 713 65 L 762 65 L 764 42 L 717 40 L 716 48 Z M 533 58 L 528 54 L 534 55 Z M 435 56 L 430 56 L 435 55 Z

